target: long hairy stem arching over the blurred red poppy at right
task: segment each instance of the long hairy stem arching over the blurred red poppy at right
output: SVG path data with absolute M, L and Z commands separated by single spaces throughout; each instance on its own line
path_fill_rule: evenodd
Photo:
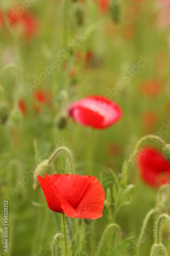
M 134 158 L 136 157 L 138 151 L 139 151 L 139 148 L 140 148 L 140 145 L 143 141 L 145 140 L 151 140 L 151 141 L 155 141 L 155 142 L 158 142 L 162 147 L 165 145 L 165 142 L 164 140 L 162 140 L 159 136 L 156 136 L 156 135 L 146 135 L 146 136 L 143 136 L 140 140 L 138 140 L 136 146 L 135 146 L 135 149 L 134 151 L 132 152 L 132 154 L 130 155 L 130 158 L 128 161 L 126 161 L 123 165 L 123 168 L 122 168 L 122 180 L 121 180 L 121 183 L 122 184 L 126 184 L 127 183 L 127 175 L 128 175 L 128 172 L 129 172 L 129 169 L 133 163 L 133 160 Z

